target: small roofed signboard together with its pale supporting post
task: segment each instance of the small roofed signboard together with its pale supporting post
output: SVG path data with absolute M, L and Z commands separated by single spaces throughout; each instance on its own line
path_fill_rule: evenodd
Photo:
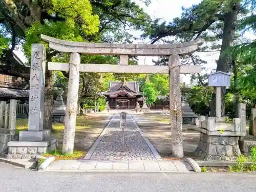
M 222 71 L 208 75 L 208 86 L 216 87 L 216 117 L 221 117 L 221 87 L 230 86 L 230 76 Z

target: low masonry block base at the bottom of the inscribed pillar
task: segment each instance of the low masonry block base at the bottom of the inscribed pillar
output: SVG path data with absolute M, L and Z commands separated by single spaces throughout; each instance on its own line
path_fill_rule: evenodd
M 30 159 L 56 150 L 58 142 L 55 138 L 42 142 L 10 141 L 8 142 L 8 147 L 7 159 Z

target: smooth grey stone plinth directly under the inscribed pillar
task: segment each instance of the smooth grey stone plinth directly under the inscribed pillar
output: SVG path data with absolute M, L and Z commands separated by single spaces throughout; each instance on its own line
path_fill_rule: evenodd
M 21 131 L 19 132 L 19 141 L 44 141 L 50 138 L 50 130 L 42 131 Z

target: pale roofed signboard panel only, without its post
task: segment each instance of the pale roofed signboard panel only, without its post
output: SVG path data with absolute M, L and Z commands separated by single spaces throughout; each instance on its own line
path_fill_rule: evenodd
M 221 71 L 208 75 L 208 86 L 212 87 L 229 87 L 230 74 Z

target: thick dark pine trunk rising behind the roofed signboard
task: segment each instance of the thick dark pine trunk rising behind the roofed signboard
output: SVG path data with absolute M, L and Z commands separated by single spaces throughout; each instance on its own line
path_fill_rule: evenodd
M 237 14 L 238 14 L 239 7 L 240 7 L 239 3 L 234 5 L 232 9 L 225 15 L 222 45 L 221 45 L 220 56 L 217 62 L 216 71 L 223 71 L 227 73 L 229 72 L 232 66 L 231 56 L 228 54 L 222 54 L 222 53 L 233 45 L 235 25 L 237 21 Z M 221 88 L 221 116 L 225 116 L 225 94 L 226 94 L 226 87 L 222 87 Z M 211 117 L 216 116 L 215 93 L 211 95 L 210 116 Z

